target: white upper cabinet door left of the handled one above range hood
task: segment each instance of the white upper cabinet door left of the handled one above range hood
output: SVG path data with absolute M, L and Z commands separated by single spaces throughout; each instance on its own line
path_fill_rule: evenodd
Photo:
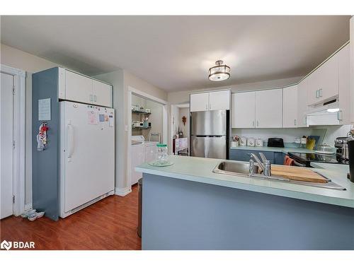
M 309 77 L 297 84 L 297 127 L 307 127 L 307 90 Z

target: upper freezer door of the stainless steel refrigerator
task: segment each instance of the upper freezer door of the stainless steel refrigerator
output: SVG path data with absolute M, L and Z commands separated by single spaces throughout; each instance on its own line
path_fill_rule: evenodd
M 212 110 L 209 112 L 191 112 L 191 135 L 226 135 L 226 110 Z

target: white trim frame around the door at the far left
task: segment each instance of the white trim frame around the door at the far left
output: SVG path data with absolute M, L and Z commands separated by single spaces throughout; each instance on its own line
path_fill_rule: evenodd
M 25 71 L 0 64 L 0 72 L 13 76 L 13 215 L 25 211 Z

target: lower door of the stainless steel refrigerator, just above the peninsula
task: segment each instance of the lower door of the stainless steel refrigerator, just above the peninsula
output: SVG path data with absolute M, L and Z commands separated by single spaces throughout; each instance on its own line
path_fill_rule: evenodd
M 192 156 L 226 159 L 226 136 L 192 136 Z

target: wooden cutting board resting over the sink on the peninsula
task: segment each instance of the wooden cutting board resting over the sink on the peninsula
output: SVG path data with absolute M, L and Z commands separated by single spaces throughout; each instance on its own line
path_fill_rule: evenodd
M 304 182 L 327 183 L 328 179 L 304 167 L 272 165 L 272 176 L 284 177 Z

